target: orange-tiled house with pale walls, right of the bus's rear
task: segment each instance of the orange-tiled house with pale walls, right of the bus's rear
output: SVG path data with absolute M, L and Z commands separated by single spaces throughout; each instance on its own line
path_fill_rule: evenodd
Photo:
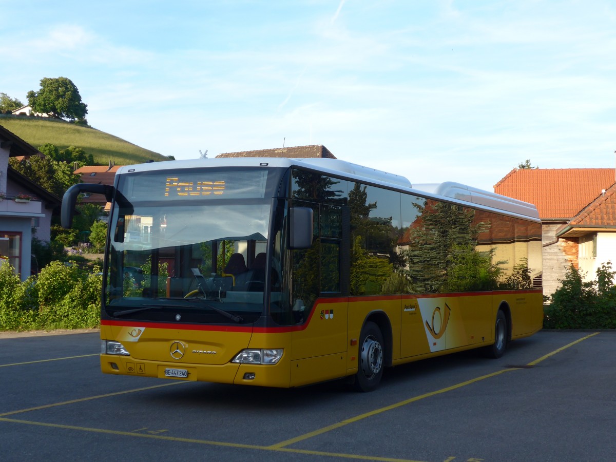
M 586 280 L 616 264 L 616 169 L 513 169 L 494 192 L 537 206 L 543 231 L 543 291 L 552 294 L 570 265 Z

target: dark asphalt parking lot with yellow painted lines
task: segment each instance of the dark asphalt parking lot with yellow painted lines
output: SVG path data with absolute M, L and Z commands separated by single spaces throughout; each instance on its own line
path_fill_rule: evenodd
M 541 331 L 387 370 L 375 392 L 100 373 L 99 334 L 0 336 L 0 458 L 612 461 L 616 332 Z

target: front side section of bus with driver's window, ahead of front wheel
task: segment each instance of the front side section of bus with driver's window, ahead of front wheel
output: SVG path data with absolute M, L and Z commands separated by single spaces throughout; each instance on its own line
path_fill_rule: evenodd
M 291 251 L 291 302 L 302 324 L 293 331 L 291 384 L 343 376 L 347 352 L 348 209 L 306 201 L 313 210 L 312 246 Z M 346 222 L 346 225 L 343 224 Z

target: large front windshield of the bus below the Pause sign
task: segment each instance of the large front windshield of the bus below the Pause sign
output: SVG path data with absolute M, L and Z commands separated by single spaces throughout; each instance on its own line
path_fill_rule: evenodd
M 118 188 L 110 217 L 108 315 L 212 323 L 262 314 L 270 198 L 160 200 L 128 189 Z

